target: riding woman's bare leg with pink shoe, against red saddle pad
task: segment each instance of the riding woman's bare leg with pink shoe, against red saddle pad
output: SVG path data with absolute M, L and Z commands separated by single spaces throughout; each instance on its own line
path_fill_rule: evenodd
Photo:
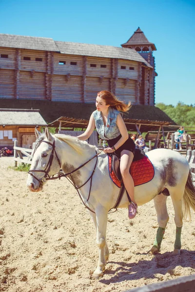
M 137 204 L 134 198 L 134 181 L 131 174 L 129 173 L 129 168 L 132 164 L 133 158 L 134 154 L 131 151 L 122 150 L 120 157 L 120 172 L 125 188 L 131 198 L 131 201 L 133 202 L 128 206 L 130 219 L 133 219 L 137 212 Z

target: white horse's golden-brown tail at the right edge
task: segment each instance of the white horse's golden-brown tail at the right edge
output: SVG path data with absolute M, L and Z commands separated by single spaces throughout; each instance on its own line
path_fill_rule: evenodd
M 184 208 L 183 208 L 184 218 L 191 219 L 190 207 L 195 211 L 195 186 L 193 184 L 192 174 L 190 171 L 189 171 L 188 180 L 185 186 L 183 201 L 184 201 Z

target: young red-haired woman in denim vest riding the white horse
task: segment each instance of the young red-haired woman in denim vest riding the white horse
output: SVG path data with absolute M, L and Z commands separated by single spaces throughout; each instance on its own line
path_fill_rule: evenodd
M 80 140 L 87 140 L 94 128 L 102 140 L 107 140 L 109 147 L 104 149 L 105 153 L 115 152 L 120 156 L 120 171 L 125 188 L 131 198 L 128 205 L 129 218 L 133 219 L 137 213 L 137 204 L 134 198 L 134 181 L 129 173 L 130 165 L 134 158 L 135 143 L 129 138 L 125 123 L 120 111 L 126 112 L 131 108 L 119 101 L 109 91 L 100 91 L 96 98 L 96 108 L 89 120 L 86 131 L 78 136 Z

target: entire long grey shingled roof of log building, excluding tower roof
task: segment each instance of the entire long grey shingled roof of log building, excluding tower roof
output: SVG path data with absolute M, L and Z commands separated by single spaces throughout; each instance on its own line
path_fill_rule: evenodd
M 52 38 L 47 37 L 25 37 L 0 34 L 0 47 L 52 51 L 67 55 L 119 58 L 142 62 L 147 67 L 153 68 L 134 49 L 65 41 L 54 41 Z

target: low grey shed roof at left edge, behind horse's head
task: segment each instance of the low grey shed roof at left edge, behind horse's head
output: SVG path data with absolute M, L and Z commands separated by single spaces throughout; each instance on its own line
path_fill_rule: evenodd
M 0 125 L 47 126 L 39 110 L 0 109 Z

